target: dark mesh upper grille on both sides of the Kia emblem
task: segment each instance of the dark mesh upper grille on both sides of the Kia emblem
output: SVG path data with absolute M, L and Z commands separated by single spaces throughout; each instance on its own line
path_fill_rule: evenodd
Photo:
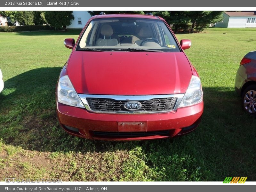
M 99 112 L 129 112 L 124 108 L 125 100 L 114 100 L 105 98 L 86 98 L 92 111 Z M 157 98 L 139 101 L 141 108 L 135 112 L 165 112 L 174 109 L 177 97 Z

